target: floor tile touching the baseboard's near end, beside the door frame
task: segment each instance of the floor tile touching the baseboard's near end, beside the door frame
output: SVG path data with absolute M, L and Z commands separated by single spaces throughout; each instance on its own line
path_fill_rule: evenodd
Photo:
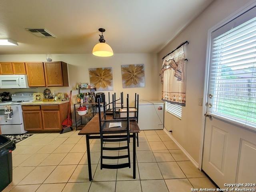
M 203 172 L 198 170 L 191 161 L 179 161 L 177 162 L 187 178 L 205 177 Z

